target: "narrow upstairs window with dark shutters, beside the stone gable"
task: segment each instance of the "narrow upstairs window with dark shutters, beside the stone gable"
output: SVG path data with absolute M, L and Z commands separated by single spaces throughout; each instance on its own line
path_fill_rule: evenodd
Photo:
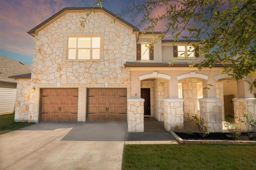
M 154 49 L 150 48 L 147 43 L 137 44 L 137 60 L 154 60 Z

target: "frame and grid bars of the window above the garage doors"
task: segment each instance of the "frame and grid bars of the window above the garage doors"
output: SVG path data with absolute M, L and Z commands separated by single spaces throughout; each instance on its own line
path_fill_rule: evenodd
M 68 47 L 69 46 L 69 38 L 76 38 L 76 48 L 69 48 Z M 78 39 L 79 38 L 90 38 L 90 48 L 78 48 Z M 92 38 L 100 38 L 100 42 L 101 42 L 101 37 L 100 36 L 79 36 L 79 37 L 68 36 L 67 37 L 67 40 L 68 40 L 68 42 L 67 42 L 67 60 L 77 60 L 77 61 L 80 61 L 80 60 L 86 60 L 86 61 L 88 61 L 88 60 L 100 60 L 100 55 L 101 55 L 101 47 L 100 46 L 101 45 L 99 44 L 99 48 L 92 48 Z M 70 59 L 69 58 L 69 55 L 68 55 L 69 49 L 76 49 L 76 59 Z M 78 51 L 79 51 L 79 49 L 90 49 L 90 59 L 78 59 Z M 92 57 L 92 55 L 93 55 L 92 51 L 94 49 L 99 49 L 98 59 L 93 59 L 93 57 Z

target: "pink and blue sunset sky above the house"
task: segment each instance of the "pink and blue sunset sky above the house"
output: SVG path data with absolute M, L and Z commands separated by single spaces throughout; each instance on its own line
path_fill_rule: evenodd
M 142 2 L 105 0 L 103 7 L 118 14 L 127 6 Z M 34 38 L 27 31 L 65 7 L 92 7 L 93 3 L 93 0 L 0 0 L 0 55 L 32 64 Z M 122 18 L 132 23 L 130 14 Z

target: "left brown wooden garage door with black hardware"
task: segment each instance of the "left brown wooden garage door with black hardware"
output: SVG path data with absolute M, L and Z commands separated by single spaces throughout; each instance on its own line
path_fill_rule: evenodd
M 77 122 L 78 89 L 42 89 L 42 121 Z

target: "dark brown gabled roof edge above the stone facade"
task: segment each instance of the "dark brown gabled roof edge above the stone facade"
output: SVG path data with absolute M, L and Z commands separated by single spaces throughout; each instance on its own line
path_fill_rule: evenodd
M 27 33 L 34 37 L 38 33 L 38 31 L 44 29 L 45 27 L 50 25 L 50 23 L 52 23 L 53 21 L 58 20 L 60 17 L 64 16 L 68 12 L 86 12 L 85 10 L 91 10 L 91 9 L 92 9 L 92 7 L 63 8 L 62 10 L 60 10 L 59 12 L 57 12 L 56 14 L 54 14 L 53 16 L 48 18 L 47 20 L 43 21 L 42 23 L 40 23 L 39 25 L 37 25 L 36 27 L 34 27 L 30 31 L 28 31 Z M 123 20 L 122 18 L 118 17 L 116 14 L 110 12 L 106 8 L 95 7 L 94 11 L 95 12 L 97 12 L 97 11 L 105 12 L 106 14 L 110 15 L 112 18 L 116 18 L 117 20 L 119 20 L 120 22 L 124 23 L 128 27 L 131 27 L 133 31 L 135 31 L 135 32 L 140 31 L 140 29 L 138 29 L 134 25 L 128 23 L 127 21 Z

